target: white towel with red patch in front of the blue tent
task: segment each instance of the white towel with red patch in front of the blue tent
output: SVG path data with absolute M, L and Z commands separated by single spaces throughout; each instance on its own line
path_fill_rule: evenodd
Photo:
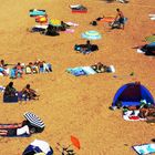
M 123 113 L 123 118 L 125 121 L 146 121 L 146 118 L 141 118 L 138 114 L 140 111 L 127 111 Z

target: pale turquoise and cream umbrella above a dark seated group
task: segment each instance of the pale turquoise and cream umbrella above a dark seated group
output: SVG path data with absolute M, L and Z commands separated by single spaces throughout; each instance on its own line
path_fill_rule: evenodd
M 99 40 L 102 38 L 97 31 L 93 31 L 93 30 L 82 33 L 81 37 L 87 40 Z

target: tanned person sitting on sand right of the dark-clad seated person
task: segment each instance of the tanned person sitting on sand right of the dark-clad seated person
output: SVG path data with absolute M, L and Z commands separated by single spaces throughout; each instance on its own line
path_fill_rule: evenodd
M 28 100 L 39 100 L 39 95 L 31 89 L 30 84 L 27 84 L 25 87 L 22 89 L 21 93 Z

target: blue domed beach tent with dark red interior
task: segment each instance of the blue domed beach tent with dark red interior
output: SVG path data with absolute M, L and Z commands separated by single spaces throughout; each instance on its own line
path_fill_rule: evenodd
M 155 103 L 151 92 L 144 85 L 127 83 L 117 90 L 112 106 L 116 106 L 118 102 L 122 103 L 122 106 L 140 105 L 141 100 L 145 100 L 151 104 Z

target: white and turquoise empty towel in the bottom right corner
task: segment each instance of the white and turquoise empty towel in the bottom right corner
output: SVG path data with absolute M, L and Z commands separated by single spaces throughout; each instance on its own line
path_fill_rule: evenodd
M 155 144 L 142 144 L 142 145 L 135 145 L 133 146 L 133 149 L 138 155 L 147 155 L 155 153 Z

